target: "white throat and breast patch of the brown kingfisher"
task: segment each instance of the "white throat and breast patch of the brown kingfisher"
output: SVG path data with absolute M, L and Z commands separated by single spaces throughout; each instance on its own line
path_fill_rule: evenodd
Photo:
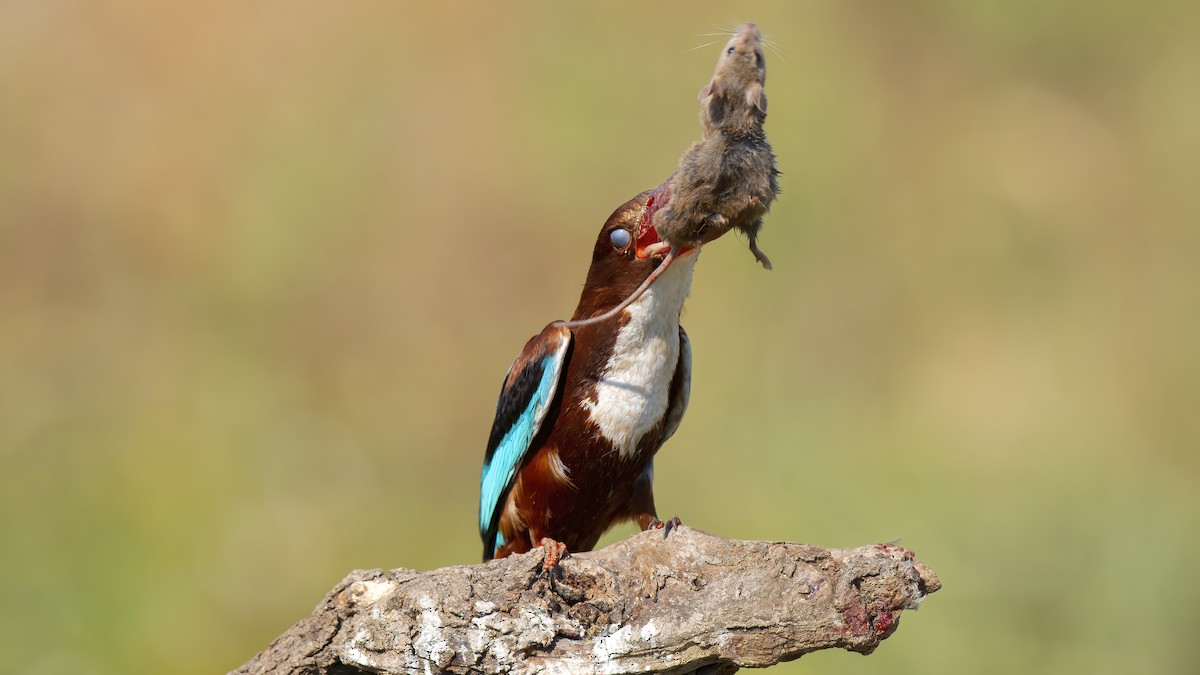
M 583 401 L 592 422 L 623 458 L 632 456 L 637 442 L 666 414 L 679 363 L 679 311 L 698 255 L 672 263 L 625 309 L 629 321 L 617 333 L 595 399 Z

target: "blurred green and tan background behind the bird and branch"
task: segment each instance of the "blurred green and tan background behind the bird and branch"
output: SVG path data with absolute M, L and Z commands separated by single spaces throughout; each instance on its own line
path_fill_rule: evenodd
M 500 378 L 746 18 L 775 270 L 703 255 L 660 509 L 944 581 L 779 673 L 1193 673 L 1200 5 L 1081 0 L 0 4 L 0 671 L 475 562 Z

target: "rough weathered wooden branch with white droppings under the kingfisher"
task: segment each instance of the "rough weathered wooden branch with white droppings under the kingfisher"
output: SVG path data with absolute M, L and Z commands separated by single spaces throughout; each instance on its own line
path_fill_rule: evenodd
M 941 587 L 889 544 L 652 530 L 565 558 L 553 583 L 540 551 L 352 572 L 235 673 L 733 673 L 829 647 L 870 653 Z

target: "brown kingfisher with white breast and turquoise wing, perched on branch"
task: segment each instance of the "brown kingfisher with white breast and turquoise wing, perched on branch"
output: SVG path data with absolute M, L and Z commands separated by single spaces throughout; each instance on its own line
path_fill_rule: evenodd
M 480 476 L 485 562 L 542 546 L 550 572 L 618 522 L 679 524 L 658 518 L 654 455 L 688 410 L 679 315 L 700 246 L 672 251 L 650 225 L 668 195 L 662 185 L 612 213 L 571 319 L 547 324 L 509 368 Z M 636 295 L 668 252 L 670 267 Z

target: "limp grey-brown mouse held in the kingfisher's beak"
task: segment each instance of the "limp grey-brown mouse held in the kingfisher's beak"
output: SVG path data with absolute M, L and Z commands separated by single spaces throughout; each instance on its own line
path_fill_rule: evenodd
M 679 169 L 666 183 L 670 202 L 654 214 L 665 241 L 696 245 L 737 228 L 750 239 L 755 258 L 770 269 L 757 243 L 762 216 L 779 195 L 775 154 L 762 130 L 766 82 L 762 34 L 746 22 L 725 44 L 712 82 L 700 91 L 704 138 L 679 159 Z

